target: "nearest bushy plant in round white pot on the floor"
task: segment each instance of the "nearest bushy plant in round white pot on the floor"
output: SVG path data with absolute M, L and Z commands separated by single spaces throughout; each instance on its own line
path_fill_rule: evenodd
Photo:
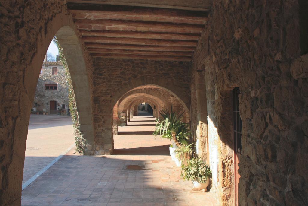
M 207 191 L 212 171 L 208 164 L 197 156 L 191 158 L 187 165 L 182 164 L 181 177 L 193 182 L 193 190 Z

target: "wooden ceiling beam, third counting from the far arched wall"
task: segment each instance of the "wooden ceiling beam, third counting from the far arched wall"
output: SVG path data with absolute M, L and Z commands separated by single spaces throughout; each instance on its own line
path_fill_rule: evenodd
M 195 47 L 182 46 L 155 46 L 155 45 L 138 45 L 138 44 L 100 44 L 88 43 L 87 48 L 110 48 L 110 49 L 126 49 L 126 50 L 142 50 L 142 51 L 194 51 Z

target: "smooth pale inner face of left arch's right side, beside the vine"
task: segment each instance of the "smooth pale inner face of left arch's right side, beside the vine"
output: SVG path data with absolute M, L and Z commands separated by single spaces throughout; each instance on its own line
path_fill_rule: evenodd
M 91 85 L 87 74 L 87 66 L 78 37 L 70 26 L 63 26 L 55 34 L 63 48 L 74 88 L 79 130 L 87 141 L 84 154 L 93 155 L 94 128 L 91 102 Z

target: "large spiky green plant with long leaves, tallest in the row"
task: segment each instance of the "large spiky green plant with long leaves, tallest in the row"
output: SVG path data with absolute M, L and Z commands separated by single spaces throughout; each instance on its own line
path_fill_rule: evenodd
M 162 138 L 167 138 L 175 142 L 178 147 L 181 144 L 187 145 L 187 140 L 189 140 L 191 133 L 189 125 L 180 120 L 183 113 L 177 114 L 172 110 L 171 105 L 170 112 L 163 110 L 160 115 L 162 118 L 156 120 L 158 123 L 153 132 L 155 138 L 157 135 L 161 135 Z

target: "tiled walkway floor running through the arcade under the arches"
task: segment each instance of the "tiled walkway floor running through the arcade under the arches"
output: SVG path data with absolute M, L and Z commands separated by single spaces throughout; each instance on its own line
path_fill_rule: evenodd
M 170 141 L 151 135 L 154 119 L 119 127 L 115 155 L 67 153 L 22 191 L 22 205 L 211 206 L 212 192 L 192 191 L 171 160 Z

